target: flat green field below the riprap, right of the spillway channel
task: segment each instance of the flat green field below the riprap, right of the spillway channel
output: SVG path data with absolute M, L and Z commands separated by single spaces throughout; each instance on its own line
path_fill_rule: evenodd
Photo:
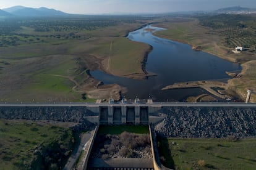
M 173 145 L 172 142 L 175 142 Z M 255 169 L 256 139 L 161 139 L 160 159 L 176 169 Z

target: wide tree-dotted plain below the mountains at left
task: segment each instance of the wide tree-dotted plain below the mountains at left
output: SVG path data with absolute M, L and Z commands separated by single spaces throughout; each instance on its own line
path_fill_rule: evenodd
M 139 18 L 145 20 L 146 18 Z M 133 24 L 137 17 L 8 18 L 1 21 L 0 47 L 92 38 L 100 29 Z M 123 34 L 123 36 L 126 33 Z M 105 35 L 107 36 L 107 34 Z M 118 35 L 118 32 L 116 34 Z

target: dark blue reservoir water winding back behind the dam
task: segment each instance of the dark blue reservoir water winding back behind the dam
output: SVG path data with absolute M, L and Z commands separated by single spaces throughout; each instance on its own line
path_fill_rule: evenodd
M 146 70 L 155 73 L 148 79 L 138 80 L 108 75 L 102 71 L 91 71 L 91 75 L 104 84 L 117 83 L 127 87 L 126 99 L 148 99 L 154 101 L 183 101 L 190 95 L 205 93 L 203 89 L 172 89 L 161 91 L 161 88 L 183 81 L 198 81 L 230 78 L 225 71 L 241 70 L 237 63 L 231 63 L 202 51 L 194 51 L 187 44 L 158 38 L 146 28 L 156 31 L 163 28 L 145 26 L 129 33 L 127 38 L 150 44 L 153 51 L 148 55 Z

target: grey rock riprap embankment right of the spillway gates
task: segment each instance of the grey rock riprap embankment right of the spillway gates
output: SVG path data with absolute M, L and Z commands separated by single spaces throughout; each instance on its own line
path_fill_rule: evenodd
M 155 126 L 165 137 L 255 137 L 256 108 L 166 107 Z

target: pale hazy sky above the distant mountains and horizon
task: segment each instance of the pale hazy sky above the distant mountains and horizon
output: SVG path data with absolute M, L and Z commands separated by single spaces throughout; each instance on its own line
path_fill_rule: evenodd
M 69 14 L 137 14 L 216 10 L 233 6 L 256 9 L 256 0 L 0 0 L 0 9 L 12 6 L 48 7 Z

